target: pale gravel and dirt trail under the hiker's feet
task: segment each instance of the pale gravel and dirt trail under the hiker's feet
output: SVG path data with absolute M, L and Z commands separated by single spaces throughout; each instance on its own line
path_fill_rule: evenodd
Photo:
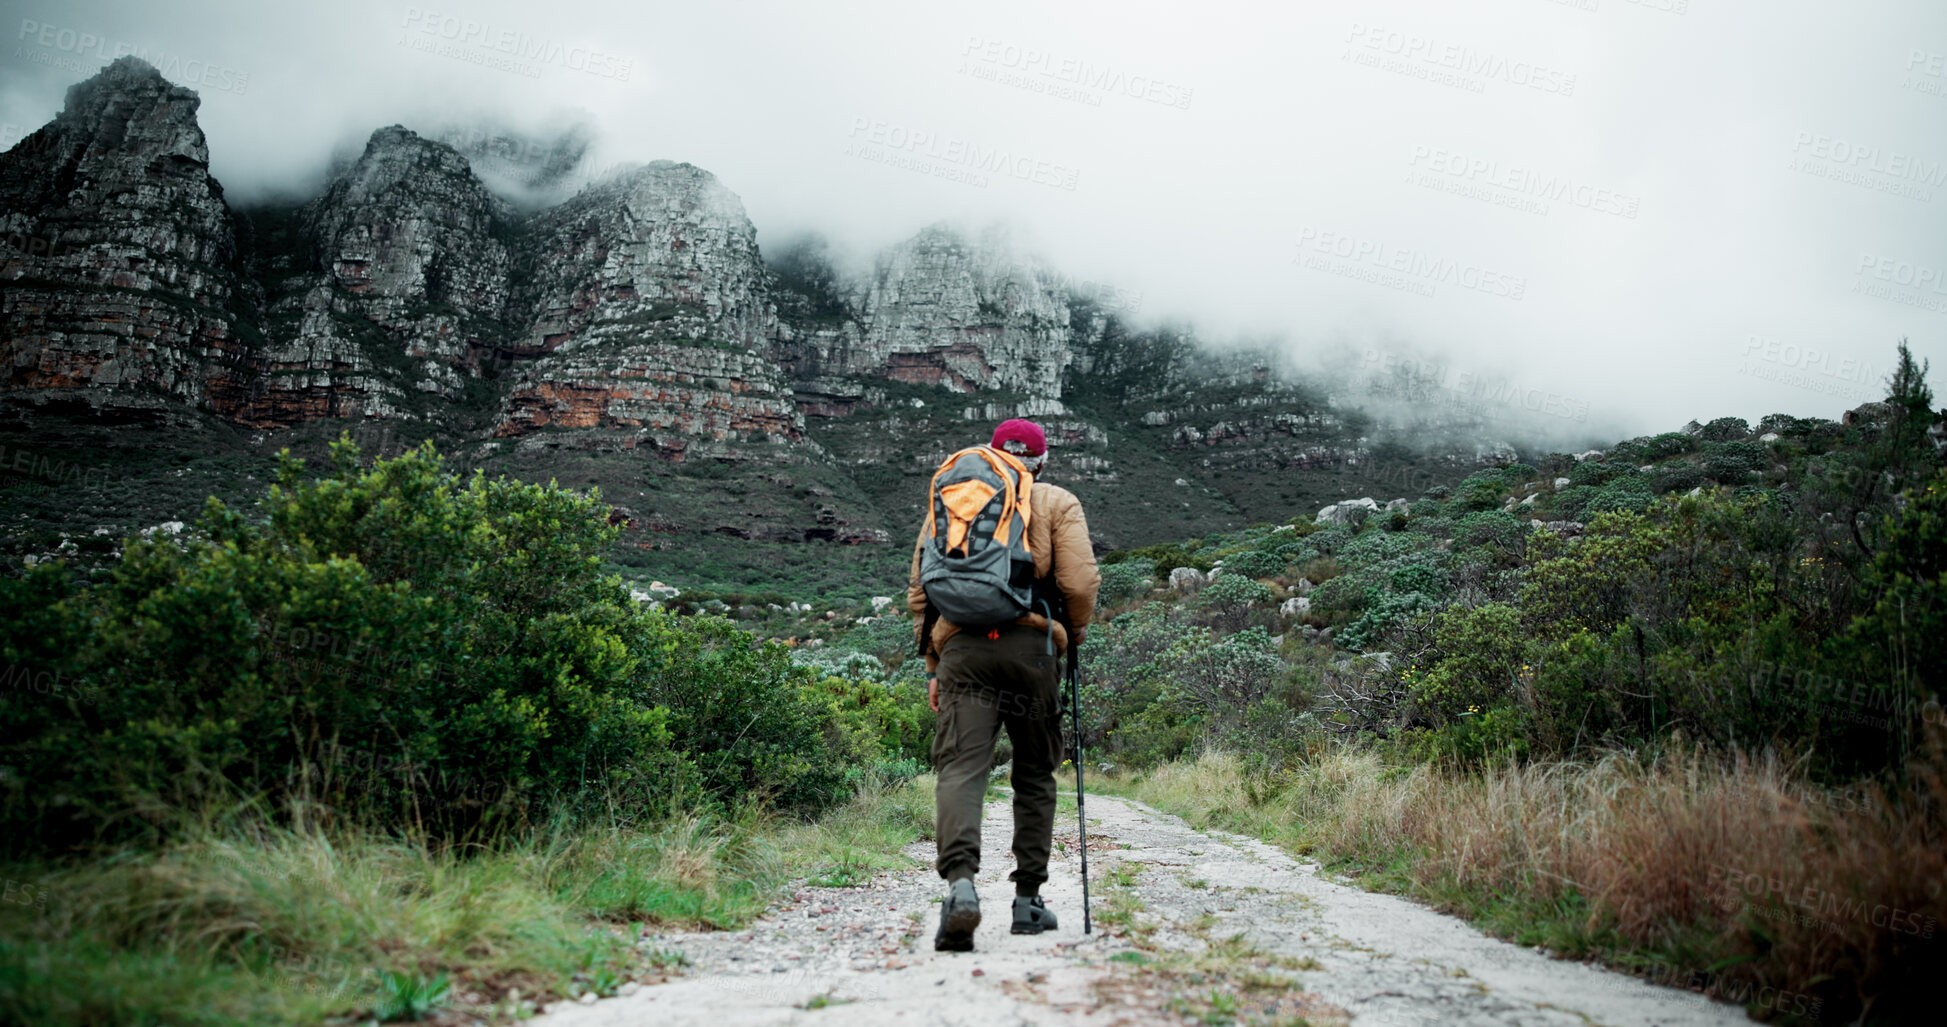
M 933 846 L 859 889 L 800 889 L 744 932 L 652 939 L 683 976 L 547 1027 L 826 1023 L 1723 1025 L 1743 1009 L 1495 941 L 1410 900 L 1316 875 L 1273 846 L 1088 799 L 1096 932 L 1073 852 L 1044 889 L 1061 930 L 1009 933 L 1007 803 L 987 805 L 985 922 L 974 953 L 935 953 Z M 1073 815 L 1063 818 L 1073 830 Z M 1073 848 L 1073 834 L 1069 834 Z

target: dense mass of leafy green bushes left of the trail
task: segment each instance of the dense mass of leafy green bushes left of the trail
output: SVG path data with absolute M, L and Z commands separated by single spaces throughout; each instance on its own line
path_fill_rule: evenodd
M 306 479 L 259 516 L 210 501 L 130 540 L 97 587 L 0 581 L 0 657 L 92 702 L 0 704 L 10 848 L 177 826 L 210 803 L 481 836 L 699 791 L 837 797 L 783 647 L 641 610 L 600 573 L 596 495 L 475 474 L 424 446 Z

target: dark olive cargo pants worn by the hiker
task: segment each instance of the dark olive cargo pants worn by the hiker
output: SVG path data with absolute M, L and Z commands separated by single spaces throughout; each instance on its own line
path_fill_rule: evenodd
M 1061 764 L 1059 657 L 1047 633 L 1010 624 L 999 637 L 960 631 L 940 647 L 940 715 L 933 768 L 940 877 L 979 871 L 979 822 L 993 742 L 1007 727 L 1014 744 L 1016 885 L 1047 881 L 1055 836 L 1055 768 Z

